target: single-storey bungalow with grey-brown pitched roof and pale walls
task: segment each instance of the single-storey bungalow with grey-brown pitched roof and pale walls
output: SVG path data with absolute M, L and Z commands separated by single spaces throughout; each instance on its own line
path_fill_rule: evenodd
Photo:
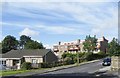
M 28 49 L 28 50 L 11 50 L 2 55 L 2 61 L 4 60 L 7 67 L 16 66 L 20 69 L 23 62 L 30 62 L 32 64 L 38 64 L 43 62 L 55 62 L 57 56 L 50 49 Z

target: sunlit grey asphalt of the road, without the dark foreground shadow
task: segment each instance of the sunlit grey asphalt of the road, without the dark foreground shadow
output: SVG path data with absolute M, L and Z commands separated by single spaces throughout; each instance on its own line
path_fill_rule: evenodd
M 62 70 L 44 73 L 44 74 L 40 74 L 40 75 L 56 75 L 56 74 L 57 75 L 58 74 L 66 75 L 66 74 L 71 74 L 71 73 L 94 73 L 98 69 L 103 68 L 101 63 L 102 63 L 102 61 L 98 61 L 98 62 L 94 62 L 94 63 L 90 63 L 90 64 L 85 64 L 85 65 L 72 67 L 72 68 L 68 68 L 68 69 L 62 69 Z M 85 74 L 82 74 L 82 75 L 85 75 Z

